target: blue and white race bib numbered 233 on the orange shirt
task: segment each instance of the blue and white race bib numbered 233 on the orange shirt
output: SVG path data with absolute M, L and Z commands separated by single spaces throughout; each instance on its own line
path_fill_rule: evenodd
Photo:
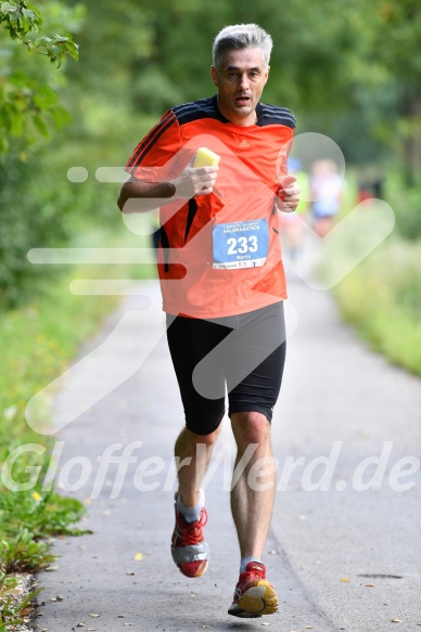
M 213 229 L 213 268 L 256 268 L 269 250 L 267 219 L 219 223 Z

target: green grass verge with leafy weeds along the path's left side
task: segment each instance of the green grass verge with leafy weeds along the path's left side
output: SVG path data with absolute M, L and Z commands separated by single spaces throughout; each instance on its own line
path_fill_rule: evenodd
M 133 240 L 127 233 L 111 238 L 85 232 L 82 246 L 131 247 L 135 243 L 141 245 L 139 237 Z M 74 525 L 84 506 L 54 490 L 42 491 L 52 440 L 35 433 L 25 420 L 27 401 L 64 371 L 79 345 L 117 305 L 113 296 L 75 296 L 69 282 L 151 274 L 151 267 L 140 273 L 124 266 L 67 267 L 47 283 L 37 284 L 36 296 L 24 307 L 0 312 L 0 632 L 13 630 L 30 615 L 30 602 L 39 592 L 18 596 L 18 573 L 51 565 L 52 536 L 81 532 Z M 30 443 L 41 449 L 13 459 L 20 447 Z

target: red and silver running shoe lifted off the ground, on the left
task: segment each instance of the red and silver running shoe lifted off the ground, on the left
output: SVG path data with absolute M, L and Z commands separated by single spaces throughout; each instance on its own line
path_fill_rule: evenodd
M 207 512 L 205 507 L 202 507 L 199 520 L 186 523 L 177 510 L 177 501 L 175 506 L 176 526 L 171 538 L 173 559 L 186 577 L 201 577 L 206 571 L 209 558 L 209 546 L 202 531 L 207 523 Z

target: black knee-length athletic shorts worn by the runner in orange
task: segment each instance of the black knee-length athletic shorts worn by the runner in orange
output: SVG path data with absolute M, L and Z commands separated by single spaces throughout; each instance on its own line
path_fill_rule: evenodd
M 213 320 L 167 314 L 167 338 L 186 426 L 216 430 L 225 414 L 256 411 L 270 422 L 285 361 L 283 302 Z

